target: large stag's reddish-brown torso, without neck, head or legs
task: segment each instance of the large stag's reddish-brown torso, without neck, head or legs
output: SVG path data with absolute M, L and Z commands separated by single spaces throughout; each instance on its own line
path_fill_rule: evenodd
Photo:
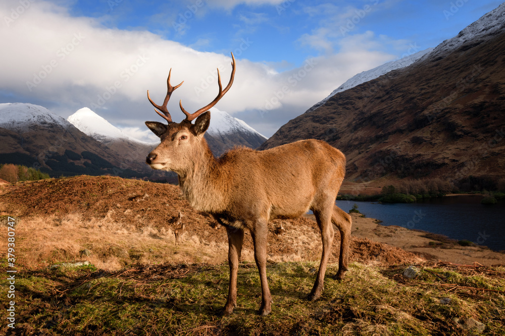
M 301 140 L 265 151 L 238 149 L 222 158 L 229 166 L 230 203 L 248 212 L 265 203 L 273 218 L 297 217 L 320 193 L 336 197 L 345 173 L 345 156 L 318 140 Z

